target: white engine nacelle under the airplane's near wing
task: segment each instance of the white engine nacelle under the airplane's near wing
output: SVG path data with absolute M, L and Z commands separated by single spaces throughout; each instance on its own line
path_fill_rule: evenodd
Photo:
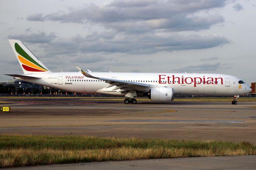
M 170 102 L 173 99 L 171 87 L 153 87 L 148 93 L 148 98 L 153 101 Z

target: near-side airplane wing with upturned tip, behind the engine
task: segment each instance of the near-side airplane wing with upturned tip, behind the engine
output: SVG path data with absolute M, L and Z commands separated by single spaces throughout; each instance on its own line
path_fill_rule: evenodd
M 103 80 L 109 85 L 103 88 L 103 91 L 116 91 L 117 93 L 127 93 L 126 97 L 134 97 L 136 96 L 136 91 L 140 91 L 141 93 L 144 93 L 149 90 L 150 86 L 145 83 L 137 83 L 137 82 L 132 82 L 132 81 L 123 81 L 123 80 L 117 80 L 117 79 L 109 79 L 109 78 L 104 78 L 104 77 L 95 77 L 88 73 L 87 71 L 84 71 L 80 67 L 76 66 L 76 68 L 86 77 L 93 78 L 93 79 L 99 79 Z M 116 87 L 113 87 L 116 86 Z M 110 88 L 112 87 L 112 88 Z M 135 95 L 134 95 L 135 93 Z M 134 96 L 132 96 L 134 95 Z

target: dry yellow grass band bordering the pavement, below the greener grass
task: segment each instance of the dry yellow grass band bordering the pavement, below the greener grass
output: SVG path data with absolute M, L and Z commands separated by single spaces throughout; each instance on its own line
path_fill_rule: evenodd
M 220 152 L 206 149 L 186 148 L 110 148 L 85 150 L 30 150 L 11 149 L 1 150 L 0 166 L 28 166 L 40 164 L 63 164 L 74 162 L 110 161 L 110 160 L 138 160 L 154 158 L 178 158 L 194 156 L 227 156 L 255 154 L 238 149 L 225 149 Z

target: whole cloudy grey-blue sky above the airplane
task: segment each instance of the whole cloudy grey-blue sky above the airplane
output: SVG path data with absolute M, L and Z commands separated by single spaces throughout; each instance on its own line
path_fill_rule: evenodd
M 256 81 L 255 0 L 1 0 L 0 82 L 22 73 L 8 39 L 51 71 L 223 73 Z

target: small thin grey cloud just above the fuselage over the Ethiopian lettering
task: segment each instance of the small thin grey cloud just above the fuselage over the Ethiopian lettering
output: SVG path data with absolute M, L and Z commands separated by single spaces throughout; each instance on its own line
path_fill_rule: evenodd
M 220 67 L 220 63 L 205 63 L 200 65 L 190 65 L 184 68 L 175 69 L 175 71 L 216 71 Z

